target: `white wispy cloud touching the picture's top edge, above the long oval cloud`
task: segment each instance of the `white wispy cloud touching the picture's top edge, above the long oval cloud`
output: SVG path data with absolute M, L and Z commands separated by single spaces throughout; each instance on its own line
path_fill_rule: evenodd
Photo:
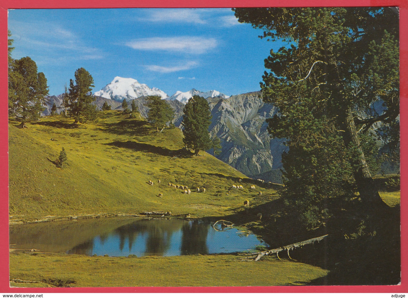
M 205 24 L 196 9 L 152 9 L 148 20 L 152 22 L 185 22 Z

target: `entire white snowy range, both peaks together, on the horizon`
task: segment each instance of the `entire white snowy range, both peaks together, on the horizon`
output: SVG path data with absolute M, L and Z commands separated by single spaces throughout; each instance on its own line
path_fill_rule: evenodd
M 94 95 L 104 97 L 106 99 L 112 99 L 117 102 L 122 102 L 123 99 L 129 101 L 131 99 L 136 99 L 141 96 L 158 95 L 162 99 L 178 100 L 183 104 L 186 104 L 188 102 L 188 99 L 190 99 L 194 95 L 199 95 L 204 98 L 229 97 L 224 93 L 220 93 L 219 91 L 216 90 L 201 92 L 196 89 L 191 89 L 190 91 L 187 92 L 177 91 L 175 94 L 169 97 L 164 91 L 161 91 L 159 88 L 156 87 L 150 88 L 146 84 L 140 84 L 139 82 L 137 82 L 136 79 L 124 77 L 115 77 L 112 82 L 103 87 L 102 90 L 95 92 Z

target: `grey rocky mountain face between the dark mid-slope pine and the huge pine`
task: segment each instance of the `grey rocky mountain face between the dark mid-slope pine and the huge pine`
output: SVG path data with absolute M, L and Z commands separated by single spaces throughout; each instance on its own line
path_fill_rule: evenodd
M 281 155 L 286 146 L 283 140 L 270 139 L 265 122 L 276 108 L 265 104 L 259 92 L 213 98 L 209 104 L 213 115 L 210 134 L 221 139 L 219 159 L 248 177 L 262 177 L 282 168 Z

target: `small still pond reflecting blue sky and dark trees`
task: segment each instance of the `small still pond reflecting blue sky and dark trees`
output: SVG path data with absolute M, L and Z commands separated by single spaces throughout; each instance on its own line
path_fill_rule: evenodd
M 235 228 L 217 232 L 210 223 L 197 220 L 105 219 L 99 222 L 103 228 L 97 221 L 89 221 L 88 228 L 85 221 L 63 225 L 47 223 L 42 228 L 27 225 L 25 230 L 11 227 L 10 243 L 17 243 L 19 247 L 40 248 L 43 252 L 109 256 L 238 252 L 255 248 L 261 243 L 253 234 L 242 237 Z M 55 243 L 58 243 L 57 247 L 53 246 Z

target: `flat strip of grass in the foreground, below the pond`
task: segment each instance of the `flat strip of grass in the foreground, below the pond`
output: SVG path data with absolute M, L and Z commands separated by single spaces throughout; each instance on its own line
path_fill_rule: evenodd
M 10 280 L 36 280 L 42 286 L 165 287 L 304 285 L 327 270 L 265 257 L 239 256 L 89 257 L 66 254 L 10 254 Z M 44 285 L 47 284 L 47 285 Z M 13 283 L 32 287 L 35 284 Z

